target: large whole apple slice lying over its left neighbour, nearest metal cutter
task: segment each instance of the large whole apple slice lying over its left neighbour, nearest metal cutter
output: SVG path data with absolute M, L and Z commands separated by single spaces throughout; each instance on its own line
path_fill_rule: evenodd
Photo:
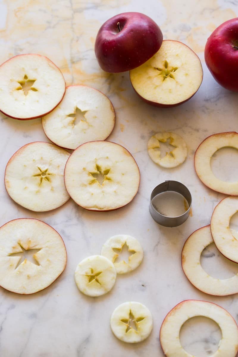
M 65 166 L 65 186 L 72 199 L 91 211 L 111 211 L 136 195 L 140 171 L 125 147 L 111 141 L 79 146 Z

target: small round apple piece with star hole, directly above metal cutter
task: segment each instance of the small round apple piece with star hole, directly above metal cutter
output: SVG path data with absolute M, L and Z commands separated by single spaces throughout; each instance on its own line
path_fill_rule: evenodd
M 161 157 L 160 150 L 157 150 L 160 147 L 159 143 L 167 142 L 167 140 L 169 140 L 170 145 L 174 146 L 174 149 Z M 181 165 L 186 160 L 188 149 L 186 142 L 180 135 L 171 132 L 159 132 L 151 136 L 148 141 L 148 154 L 156 164 L 171 168 Z

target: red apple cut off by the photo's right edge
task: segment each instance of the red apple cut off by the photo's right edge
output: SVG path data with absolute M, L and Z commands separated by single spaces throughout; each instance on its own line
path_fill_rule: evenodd
M 238 17 L 223 22 L 208 38 L 205 62 L 214 79 L 238 92 Z

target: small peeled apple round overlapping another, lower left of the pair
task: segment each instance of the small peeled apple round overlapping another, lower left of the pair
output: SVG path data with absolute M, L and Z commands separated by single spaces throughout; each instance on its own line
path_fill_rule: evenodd
M 112 289 L 116 282 L 116 269 L 112 262 L 101 255 L 83 259 L 75 270 L 79 290 L 88 296 L 101 296 Z

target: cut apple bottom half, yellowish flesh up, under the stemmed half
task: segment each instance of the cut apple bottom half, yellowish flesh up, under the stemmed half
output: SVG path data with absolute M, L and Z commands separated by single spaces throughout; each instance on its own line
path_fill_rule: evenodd
M 164 40 L 153 57 L 130 71 L 136 93 L 158 107 L 186 102 L 197 92 L 202 78 L 202 65 L 196 53 L 173 40 Z

